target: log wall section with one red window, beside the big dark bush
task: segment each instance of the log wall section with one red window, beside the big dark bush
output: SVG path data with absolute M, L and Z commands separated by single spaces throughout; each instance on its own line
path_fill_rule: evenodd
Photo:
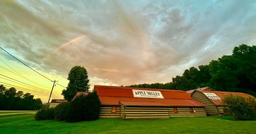
M 115 108 L 116 107 L 116 111 Z M 101 105 L 100 118 L 119 118 L 120 105 Z

